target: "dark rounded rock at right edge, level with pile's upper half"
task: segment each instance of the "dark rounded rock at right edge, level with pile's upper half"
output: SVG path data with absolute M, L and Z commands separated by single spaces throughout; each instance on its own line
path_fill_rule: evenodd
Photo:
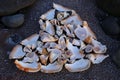
M 108 35 L 117 36 L 120 33 L 119 24 L 114 17 L 107 17 L 106 19 L 104 19 L 101 22 L 101 26 L 103 31 Z

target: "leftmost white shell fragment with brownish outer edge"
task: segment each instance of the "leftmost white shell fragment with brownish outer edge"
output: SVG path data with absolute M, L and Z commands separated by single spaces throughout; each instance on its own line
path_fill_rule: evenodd
M 9 59 L 20 59 L 25 56 L 21 45 L 16 45 L 9 55 Z

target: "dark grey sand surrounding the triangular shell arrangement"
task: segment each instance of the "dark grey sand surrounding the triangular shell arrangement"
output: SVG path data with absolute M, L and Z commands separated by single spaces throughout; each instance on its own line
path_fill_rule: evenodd
M 20 11 L 25 13 L 25 23 L 22 27 L 19 29 L 0 29 L 0 80 L 120 80 L 120 69 L 117 69 L 111 57 L 101 64 L 92 65 L 84 72 L 70 73 L 63 69 L 56 74 L 25 73 L 18 70 L 13 61 L 8 59 L 9 51 L 14 46 L 6 43 L 8 35 L 16 33 L 21 36 L 21 39 L 24 39 L 33 33 L 37 33 L 39 31 L 38 20 L 40 15 L 51 9 L 53 2 L 76 10 L 83 20 L 88 21 L 98 41 L 107 45 L 107 53 L 110 56 L 115 54 L 120 42 L 111 39 L 102 31 L 95 17 L 101 10 L 96 7 L 94 0 L 37 0 L 33 6 Z

